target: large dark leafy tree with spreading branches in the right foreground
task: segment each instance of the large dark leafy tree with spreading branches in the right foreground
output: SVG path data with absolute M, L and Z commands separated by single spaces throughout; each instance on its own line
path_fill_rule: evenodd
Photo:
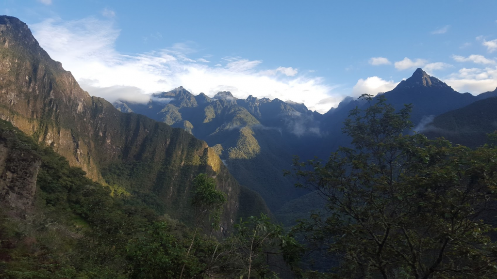
M 496 278 L 497 149 L 406 134 L 411 105 L 361 97 L 343 128 L 355 148 L 294 161 L 297 186 L 327 200 L 296 228 L 337 262 L 319 278 Z

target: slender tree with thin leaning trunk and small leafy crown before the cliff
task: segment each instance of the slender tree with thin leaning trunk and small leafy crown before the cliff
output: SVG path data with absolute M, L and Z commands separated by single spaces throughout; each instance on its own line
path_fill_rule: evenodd
M 223 205 L 226 203 L 226 194 L 222 191 L 216 190 L 216 181 L 212 177 L 208 177 L 207 174 L 201 173 L 197 175 L 195 179 L 193 179 L 193 184 L 194 189 L 191 205 L 195 210 L 195 230 L 193 231 L 190 246 L 186 251 L 185 262 L 183 264 L 183 268 L 181 269 L 179 279 L 183 276 L 188 255 L 190 254 L 201 223 L 205 221 L 206 217 L 209 217 L 209 220 L 212 221 L 211 228 L 218 229 Z

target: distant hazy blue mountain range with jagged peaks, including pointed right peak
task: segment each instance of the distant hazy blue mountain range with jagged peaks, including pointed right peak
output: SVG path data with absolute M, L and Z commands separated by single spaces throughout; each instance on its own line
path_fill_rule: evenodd
M 478 96 L 459 93 L 417 69 L 381 95 L 396 109 L 412 104 L 411 120 L 419 131 L 435 116 L 497 96 L 497 91 Z M 122 112 L 146 115 L 205 140 L 235 178 L 259 193 L 280 220 L 287 219 L 284 212 L 304 203 L 299 198 L 307 194 L 293 188 L 295 181 L 291 178 L 282 176 L 283 170 L 290 168 L 293 155 L 324 159 L 338 146 L 349 144 L 350 139 L 341 133 L 342 123 L 350 110 L 368 105 L 363 99 L 346 97 L 322 115 L 291 101 L 251 95 L 237 99 L 230 92 L 219 92 L 211 98 L 204 93 L 193 95 L 183 87 L 152 94 L 145 104 L 126 100 L 114 103 Z

